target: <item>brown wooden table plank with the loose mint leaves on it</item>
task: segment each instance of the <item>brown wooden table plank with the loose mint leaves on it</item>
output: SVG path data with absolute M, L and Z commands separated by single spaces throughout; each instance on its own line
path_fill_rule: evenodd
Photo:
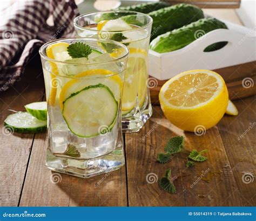
M 129 205 L 241 206 L 238 187 L 218 127 L 197 136 L 174 127 L 164 118 L 159 106 L 154 106 L 153 113 L 139 133 L 125 136 Z M 185 137 L 185 151 L 164 165 L 156 162 L 157 153 L 163 152 L 166 141 L 180 135 Z M 193 148 L 198 151 L 208 149 L 208 160 L 196 163 L 194 168 L 186 168 L 186 157 Z M 159 188 L 158 182 L 153 182 L 159 180 L 167 168 L 172 168 L 172 175 L 178 177 L 174 181 L 177 194 L 166 194 Z M 194 182 L 197 184 L 193 185 Z

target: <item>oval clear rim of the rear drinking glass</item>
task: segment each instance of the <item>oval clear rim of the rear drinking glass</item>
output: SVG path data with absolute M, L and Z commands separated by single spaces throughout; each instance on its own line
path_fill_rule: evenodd
M 113 13 L 113 12 L 123 12 L 123 13 L 133 13 L 133 14 L 137 14 L 137 15 L 142 15 L 142 16 L 145 16 L 147 18 L 149 18 L 149 23 L 147 23 L 146 25 L 143 25 L 141 27 L 135 27 L 135 28 L 131 28 L 129 30 L 125 30 L 125 31 L 99 31 L 99 30 L 94 30 L 92 28 L 86 28 L 86 27 L 82 27 L 78 24 L 76 24 L 76 22 L 78 21 L 78 19 L 84 17 L 84 16 L 89 16 L 89 15 L 93 15 L 93 14 L 104 14 L 104 13 Z M 95 12 L 88 12 L 88 13 L 85 13 L 83 15 L 79 15 L 77 16 L 74 20 L 73 20 L 73 25 L 80 29 L 80 30 L 83 30 L 83 31 L 91 31 L 91 32 L 101 32 L 101 33 L 125 33 L 125 32 L 131 32 L 131 31 L 138 31 L 138 30 L 142 30 L 144 29 L 145 27 L 151 25 L 153 23 L 153 19 L 149 16 L 149 15 L 146 15 L 144 13 L 141 13 L 141 12 L 137 12 L 137 11 L 125 11 L 125 10 L 117 10 L 117 11 L 95 11 Z

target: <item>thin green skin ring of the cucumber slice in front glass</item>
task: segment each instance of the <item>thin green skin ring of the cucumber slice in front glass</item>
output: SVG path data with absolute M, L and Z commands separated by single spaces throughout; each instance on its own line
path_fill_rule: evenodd
M 89 85 L 89 86 L 83 88 L 82 90 L 79 90 L 79 91 L 77 91 L 77 92 L 72 93 L 68 98 L 65 99 L 65 101 L 63 102 L 63 110 L 62 110 L 62 113 L 64 113 L 65 102 L 68 101 L 68 99 L 70 99 L 70 98 L 73 97 L 73 96 L 78 95 L 80 92 L 82 92 L 82 91 L 84 91 L 84 90 L 88 90 L 88 89 L 91 89 L 91 88 L 99 88 L 99 87 L 107 89 L 107 90 L 110 92 L 111 96 L 114 98 L 113 92 L 112 92 L 112 91 L 109 89 L 109 87 L 107 87 L 106 85 L 101 84 L 101 83 L 96 84 L 96 85 Z M 116 111 L 116 116 L 117 116 L 118 108 L 119 108 L 119 107 L 118 107 L 118 102 L 117 102 L 116 98 L 114 98 L 114 101 L 115 101 L 116 104 L 117 104 L 117 111 Z M 68 127 L 69 127 L 68 121 L 66 120 L 66 118 L 64 117 L 64 115 L 62 115 L 62 116 L 63 116 L 63 118 L 64 118 L 64 120 L 65 120 L 65 122 L 66 122 L 66 125 L 68 125 Z M 111 123 L 110 128 L 109 128 L 109 132 L 112 131 L 115 122 L 116 122 L 116 118 L 114 118 L 113 122 Z M 76 133 L 74 133 L 74 132 L 70 129 L 70 127 L 69 127 L 69 130 L 70 130 L 73 134 L 76 134 Z M 102 133 L 102 134 L 103 134 L 103 133 Z M 99 133 L 93 134 L 93 135 L 91 135 L 91 136 L 85 136 L 85 137 L 84 137 L 84 136 L 81 136 L 81 135 L 79 135 L 79 134 L 76 134 L 77 137 L 82 137 L 82 138 L 91 138 L 91 137 L 96 137 L 96 136 L 98 136 L 98 135 L 99 135 Z

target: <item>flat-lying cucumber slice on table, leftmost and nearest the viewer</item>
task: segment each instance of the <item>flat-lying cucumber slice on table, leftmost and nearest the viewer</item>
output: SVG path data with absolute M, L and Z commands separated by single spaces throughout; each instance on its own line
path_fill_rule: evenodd
M 4 120 L 6 129 L 18 133 L 39 133 L 47 129 L 46 120 L 39 120 L 28 112 L 17 112 Z

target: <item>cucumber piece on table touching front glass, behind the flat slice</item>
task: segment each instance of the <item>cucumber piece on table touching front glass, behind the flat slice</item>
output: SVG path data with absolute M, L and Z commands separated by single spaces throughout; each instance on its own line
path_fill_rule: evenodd
M 47 103 L 46 103 L 46 101 L 27 104 L 27 105 L 25 105 L 25 109 L 32 116 L 36 117 L 39 120 L 47 119 Z

